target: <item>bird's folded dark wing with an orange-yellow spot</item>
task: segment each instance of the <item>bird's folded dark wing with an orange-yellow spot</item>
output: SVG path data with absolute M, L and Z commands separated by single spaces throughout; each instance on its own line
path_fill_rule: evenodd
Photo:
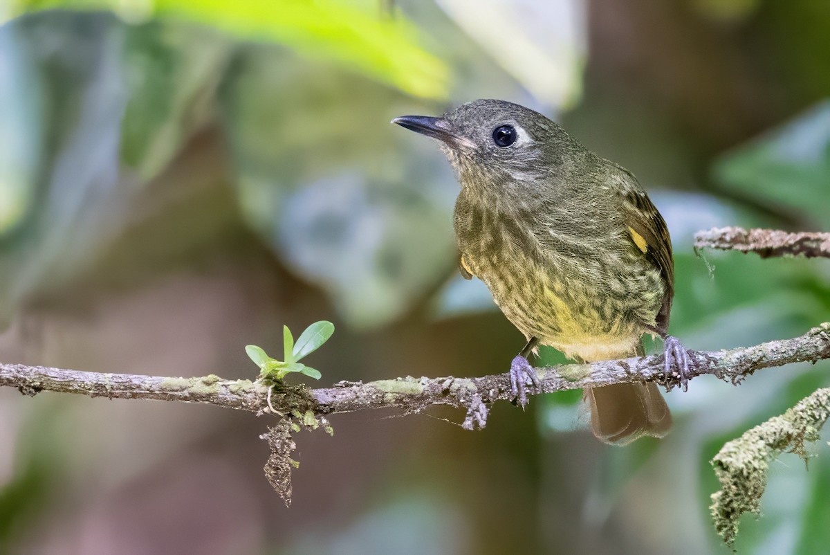
M 660 270 L 666 292 L 660 312 L 657 313 L 657 330 L 666 333 L 669 327 L 671 299 L 674 297 L 674 262 L 671 258 L 671 238 L 666 221 L 648 198 L 637 178 L 622 166 L 614 165 L 620 179 L 623 221 L 628 226 L 632 243 L 645 254 L 647 260 Z

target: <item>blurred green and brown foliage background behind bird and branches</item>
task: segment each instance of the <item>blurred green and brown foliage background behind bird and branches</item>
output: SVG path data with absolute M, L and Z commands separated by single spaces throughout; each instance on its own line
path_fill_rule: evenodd
M 12 0 L 0 17 L 3 361 L 250 378 L 247 343 L 325 319 L 324 383 L 504 370 L 522 338 L 457 276 L 455 179 L 388 125 L 480 97 L 543 111 L 652 192 L 687 346 L 828 320 L 828 261 L 691 248 L 715 225 L 828 230 L 827 2 Z M 0 390 L 0 552 L 728 553 L 707 461 L 828 369 L 696 380 L 668 395 L 666 440 L 626 449 L 590 437 L 573 392 L 496 405 L 475 434 L 448 410 L 342 415 L 334 438 L 297 438 L 290 509 L 261 474 L 263 420 Z M 826 553 L 825 450 L 774 464 L 740 553 Z

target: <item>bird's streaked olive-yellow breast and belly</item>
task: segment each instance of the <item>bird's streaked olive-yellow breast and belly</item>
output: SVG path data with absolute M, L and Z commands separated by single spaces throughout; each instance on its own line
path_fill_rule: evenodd
M 552 248 L 535 236 L 532 221 L 462 200 L 455 230 L 464 263 L 520 332 L 585 360 L 632 351 L 642 323 L 632 321 L 630 308 L 642 299 L 623 291 L 623 273 L 609 268 L 613 257 Z

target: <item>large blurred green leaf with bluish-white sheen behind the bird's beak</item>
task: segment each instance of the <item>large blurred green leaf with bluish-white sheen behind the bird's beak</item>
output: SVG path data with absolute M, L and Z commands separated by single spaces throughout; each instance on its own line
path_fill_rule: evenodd
M 446 278 L 458 185 L 431 141 L 389 125 L 436 106 L 266 47 L 240 53 L 221 98 L 246 222 L 345 323 L 388 323 Z

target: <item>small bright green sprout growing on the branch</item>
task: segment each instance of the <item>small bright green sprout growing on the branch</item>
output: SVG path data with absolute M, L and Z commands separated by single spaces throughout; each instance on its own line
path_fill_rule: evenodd
M 245 352 L 247 352 L 251 361 L 254 361 L 254 364 L 260 367 L 260 378 L 262 379 L 282 380 L 291 372 L 300 372 L 300 374 L 320 380 L 320 371 L 305 366 L 305 364 L 300 364 L 300 359 L 319 349 L 323 343 L 329 341 L 329 337 L 333 333 L 333 323 L 325 322 L 325 320 L 315 322 L 305 328 L 305 332 L 300 334 L 300 339 L 295 343 L 294 337 L 291 336 L 291 330 L 288 329 L 288 326 L 283 326 L 282 347 L 285 360 L 277 361 L 271 358 L 266 354 L 266 351 L 256 345 L 246 346 Z

